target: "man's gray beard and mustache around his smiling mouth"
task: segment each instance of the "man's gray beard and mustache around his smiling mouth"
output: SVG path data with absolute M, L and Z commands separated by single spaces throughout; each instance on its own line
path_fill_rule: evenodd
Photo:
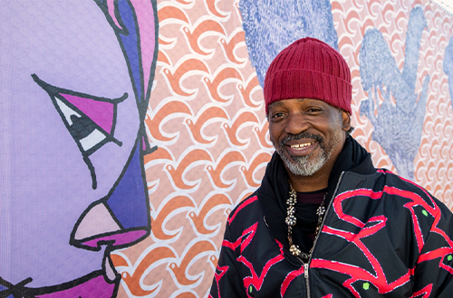
M 297 140 L 301 138 L 313 138 L 315 139 L 320 147 L 320 153 L 318 156 L 313 158 L 313 160 L 310 160 L 310 157 L 313 154 L 308 154 L 304 156 L 294 156 L 290 155 L 286 151 L 286 147 L 284 144 L 291 140 Z M 341 133 L 338 135 L 333 135 L 333 139 L 330 142 L 330 144 L 325 144 L 323 142 L 323 139 L 319 137 L 318 135 L 311 135 L 311 134 L 306 134 L 302 133 L 299 135 L 293 135 L 285 138 L 276 148 L 275 150 L 277 153 L 280 155 L 282 158 L 284 165 L 286 166 L 286 169 L 288 171 L 294 173 L 294 175 L 297 176 L 312 176 L 315 172 L 318 172 L 325 163 L 329 160 L 331 157 L 333 148 L 336 147 L 338 144 L 340 144 L 340 139 L 341 139 Z M 288 157 L 288 155 L 290 157 Z

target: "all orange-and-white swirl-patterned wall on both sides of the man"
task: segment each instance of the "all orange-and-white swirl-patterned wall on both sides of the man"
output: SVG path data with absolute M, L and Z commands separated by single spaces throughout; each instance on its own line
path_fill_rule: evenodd
M 159 149 L 145 158 L 151 237 L 115 252 L 119 297 L 206 297 L 226 217 L 255 191 L 273 153 L 262 88 L 248 60 L 238 0 L 159 0 L 159 57 L 146 124 Z M 353 136 L 378 167 L 396 172 L 373 127 L 360 116 L 359 51 L 368 28 L 389 43 L 401 69 L 410 10 L 423 5 L 416 92 L 429 94 L 415 179 L 453 208 L 453 111 L 444 51 L 453 17 L 429 1 L 333 1 L 338 45 L 352 70 Z M 383 100 L 377 98 L 378 102 Z

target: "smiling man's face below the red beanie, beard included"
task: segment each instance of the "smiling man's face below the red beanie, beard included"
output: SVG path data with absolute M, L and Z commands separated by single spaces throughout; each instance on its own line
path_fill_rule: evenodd
M 347 112 L 317 99 L 274 102 L 268 120 L 275 150 L 297 176 L 328 176 L 351 127 Z

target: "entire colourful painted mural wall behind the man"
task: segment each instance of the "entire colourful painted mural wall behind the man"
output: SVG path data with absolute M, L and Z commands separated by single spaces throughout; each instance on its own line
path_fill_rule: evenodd
M 207 297 L 274 152 L 265 70 L 303 36 L 348 62 L 375 165 L 453 209 L 453 16 L 428 0 L 19 0 L 0 19 L 0 297 Z

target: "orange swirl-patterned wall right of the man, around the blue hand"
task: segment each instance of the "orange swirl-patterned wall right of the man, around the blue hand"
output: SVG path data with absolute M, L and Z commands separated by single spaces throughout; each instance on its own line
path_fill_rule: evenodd
M 448 78 L 443 72 L 443 59 L 452 36 L 453 17 L 439 6 L 426 1 L 409 5 L 400 1 L 371 1 L 366 5 L 355 2 L 333 2 L 333 20 L 338 23 L 339 48 L 342 55 L 350 57 L 353 85 L 353 119 L 356 121 L 354 137 L 371 152 L 373 162 L 397 172 L 380 144 L 371 140 L 372 126 L 366 116 L 360 116 L 361 100 L 368 97 L 361 88 L 359 50 L 365 31 L 377 28 L 390 46 L 390 51 L 400 70 L 404 64 L 405 39 L 411 9 L 424 7 L 428 29 L 422 34 L 419 51 L 419 69 L 416 92 L 422 78 L 430 75 L 427 111 L 419 154 L 414 160 L 415 182 L 453 209 L 453 111 L 448 92 Z M 379 98 L 380 103 L 382 98 Z

